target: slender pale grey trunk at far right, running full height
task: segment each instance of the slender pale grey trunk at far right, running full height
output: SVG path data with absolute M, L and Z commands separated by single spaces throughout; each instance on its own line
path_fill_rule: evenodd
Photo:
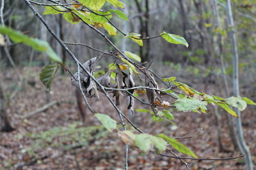
M 227 14 L 228 14 L 228 24 L 231 28 L 230 31 L 230 39 L 232 43 L 232 51 L 233 51 L 233 88 L 234 88 L 234 95 L 239 96 L 239 55 L 237 52 L 237 42 L 236 42 L 236 34 L 234 30 L 234 20 L 232 15 L 232 8 L 230 0 L 227 0 Z M 243 136 L 243 127 L 241 123 L 241 113 L 236 108 L 236 113 L 239 118 L 236 118 L 236 127 L 237 127 L 237 137 L 238 137 L 238 143 L 239 143 L 239 149 L 241 152 L 245 154 L 245 163 L 246 163 L 246 169 L 247 170 L 253 170 L 253 162 L 252 162 L 252 155 L 250 153 L 250 150 L 248 146 L 246 145 L 244 141 Z

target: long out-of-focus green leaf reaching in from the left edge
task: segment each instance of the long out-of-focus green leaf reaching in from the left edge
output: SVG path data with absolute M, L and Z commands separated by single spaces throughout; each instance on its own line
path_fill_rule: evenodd
M 36 38 L 29 38 L 22 32 L 15 31 L 10 27 L 0 26 L 0 33 L 6 34 L 15 43 L 24 43 L 25 45 L 31 46 L 34 50 L 39 52 L 46 52 L 49 58 L 55 62 L 62 63 L 62 60 L 58 55 L 52 50 L 51 46 L 46 42 Z

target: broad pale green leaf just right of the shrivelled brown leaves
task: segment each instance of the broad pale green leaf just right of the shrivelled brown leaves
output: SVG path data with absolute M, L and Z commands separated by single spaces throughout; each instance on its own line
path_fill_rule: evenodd
M 177 108 L 179 111 L 193 111 L 193 110 L 198 110 L 198 108 L 203 108 L 204 110 L 207 110 L 207 102 L 206 101 L 200 101 L 195 98 L 180 98 L 177 99 L 174 103 L 174 106 Z

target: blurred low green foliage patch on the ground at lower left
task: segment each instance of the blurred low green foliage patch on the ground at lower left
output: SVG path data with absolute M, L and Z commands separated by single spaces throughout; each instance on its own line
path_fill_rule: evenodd
M 26 150 L 29 153 L 47 147 L 70 150 L 77 146 L 86 146 L 90 140 L 102 138 L 106 133 L 103 126 L 81 127 L 79 122 L 75 122 L 68 127 L 53 127 L 48 131 L 27 133 L 26 136 L 33 138 L 34 142 Z

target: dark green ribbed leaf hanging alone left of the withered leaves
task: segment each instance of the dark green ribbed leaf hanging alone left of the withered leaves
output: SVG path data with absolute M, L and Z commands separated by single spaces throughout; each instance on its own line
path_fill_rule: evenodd
M 40 73 L 40 80 L 45 85 L 47 90 L 51 90 L 52 82 L 58 68 L 59 64 L 50 64 L 42 69 Z

